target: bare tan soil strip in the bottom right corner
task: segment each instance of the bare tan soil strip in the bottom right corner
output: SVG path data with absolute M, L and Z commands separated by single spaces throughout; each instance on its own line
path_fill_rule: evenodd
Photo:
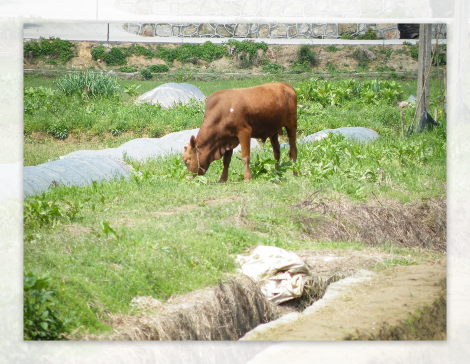
M 383 325 L 402 324 L 417 309 L 431 305 L 445 277 L 445 257 L 378 271 L 372 280 L 346 289 L 328 306 L 297 322 L 257 333 L 250 340 L 342 340 L 358 333 L 378 338 Z M 446 333 L 436 334 L 434 340 L 446 340 Z

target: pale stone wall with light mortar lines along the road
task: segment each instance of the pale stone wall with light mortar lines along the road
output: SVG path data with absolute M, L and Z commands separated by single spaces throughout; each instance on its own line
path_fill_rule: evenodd
M 343 34 L 364 34 L 369 29 L 380 39 L 400 39 L 398 24 L 332 24 L 332 23 L 183 23 L 183 24 L 125 24 L 127 31 L 145 37 L 191 37 L 191 38 L 252 38 L 252 39 L 339 39 Z M 439 25 L 433 26 L 433 39 Z M 443 24 L 440 39 L 446 38 Z

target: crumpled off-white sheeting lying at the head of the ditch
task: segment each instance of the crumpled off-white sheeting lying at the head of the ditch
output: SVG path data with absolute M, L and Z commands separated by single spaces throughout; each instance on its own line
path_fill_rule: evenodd
M 249 256 L 237 256 L 242 273 L 261 286 L 261 292 L 274 304 L 300 297 L 308 266 L 295 254 L 282 248 L 260 245 Z

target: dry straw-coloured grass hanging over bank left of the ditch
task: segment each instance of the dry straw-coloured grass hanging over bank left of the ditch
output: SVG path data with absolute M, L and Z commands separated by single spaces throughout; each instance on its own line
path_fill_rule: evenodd
M 245 277 L 153 308 L 153 313 L 110 315 L 113 333 L 84 335 L 82 340 L 237 340 L 289 312 L 269 302 L 259 285 Z

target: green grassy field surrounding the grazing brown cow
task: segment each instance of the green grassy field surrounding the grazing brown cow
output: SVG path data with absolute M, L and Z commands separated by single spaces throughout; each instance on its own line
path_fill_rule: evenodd
M 25 77 L 24 87 L 54 88 L 54 80 Z M 204 94 L 230 87 L 264 83 L 250 81 L 193 82 Z M 120 81 L 131 85 L 132 81 Z M 402 85 L 402 98 L 415 93 L 415 84 Z M 158 82 L 139 82 L 143 93 Z M 296 85 L 294 85 L 296 86 Z M 432 80 L 435 95 L 437 81 Z M 138 109 L 122 93 L 113 100 L 54 96 L 55 110 L 32 109 L 24 116 L 24 164 L 39 164 L 77 149 L 116 147 L 142 135 L 198 127 L 204 105 L 170 110 Z M 434 103 L 435 101 L 434 97 Z M 42 102 L 42 101 L 41 101 Z M 87 114 L 92 104 L 103 113 Z M 75 103 L 75 104 L 74 104 Z M 56 290 L 56 310 L 73 318 L 68 329 L 82 333 L 106 332 L 107 312 L 129 313 L 137 295 L 166 300 L 223 281 L 235 272 L 235 256 L 257 245 L 288 250 L 363 249 L 360 240 L 328 240 L 308 234 L 328 217 L 295 207 L 315 191 L 317 198 L 350 204 L 407 203 L 446 197 L 446 122 L 431 132 L 401 138 L 400 109 L 378 100 L 347 101 L 322 108 L 299 101 L 299 137 L 325 128 L 364 126 L 381 138 L 368 143 L 330 136 L 298 146 L 298 163 L 290 165 L 282 150 L 281 166 L 274 170 L 269 145 L 252 153 L 251 183 L 214 184 L 222 161 L 211 164 L 204 177 L 188 180 L 180 155 L 146 163 L 128 161 L 141 174 L 88 187 L 54 187 L 24 204 L 24 272 L 50 273 Z M 308 106 L 308 108 L 306 108 Z M 84 111 L 85 110 L 85 111 Z M 432 112 L 432 110 L 431 110 Z M 413 108 L 405 109 L 410 124 Z M 433 114 L 432 114 L 433 115 Z M 71 125 L 69 136 L 57 140 L 50 127 Z M 127 129 L 112 135 L 111 127 L 126 122 Z M 38 133 L 42 136 L 37 137 Z M 93 139 L 96 138 L 96 139 Z M 377 168 L 385 172 L 379 182 Z M 292 176 L 292 169 L 299 177 Z M 243 163 L 234 155 L 228 182 L 243 181 Z M 307 226 L 308 223 L 308 226 Z M 380 249 L 418 259 L 428 250 L 394 242 Z

